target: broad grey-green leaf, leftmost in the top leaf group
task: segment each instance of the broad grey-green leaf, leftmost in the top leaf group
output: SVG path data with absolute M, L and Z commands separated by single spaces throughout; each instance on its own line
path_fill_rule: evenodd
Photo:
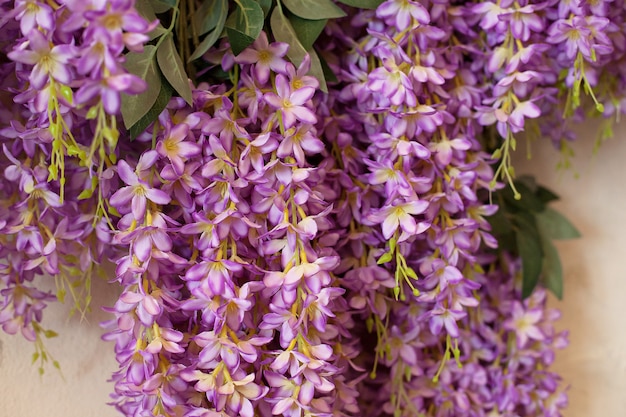
M 161 75 L 155 59 L 156 47 L 146 45 L 143 52 L 129 52 L 124 66 L 131 74 L 144 80 L 148 85 L 146 91 L 137 95 L 122 95 L 122 119 L 130 129 L 150 110 L 161 89 Z

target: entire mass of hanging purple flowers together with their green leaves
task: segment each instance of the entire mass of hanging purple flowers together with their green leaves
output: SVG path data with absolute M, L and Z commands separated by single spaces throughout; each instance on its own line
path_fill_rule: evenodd
M 0 0 L 3 330 L 109 261 L 123 415 L 559 416 L 511 153 L 622 111 L 623 1 L 230 3 Z

